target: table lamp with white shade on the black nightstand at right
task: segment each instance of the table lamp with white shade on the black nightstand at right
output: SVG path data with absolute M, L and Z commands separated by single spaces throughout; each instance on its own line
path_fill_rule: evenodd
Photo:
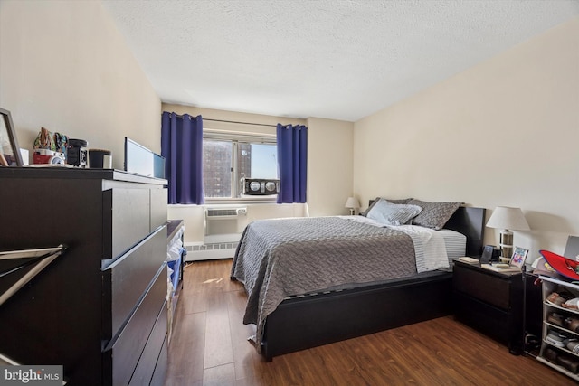
M 527 219 L 520 208 L 509 208 L 508 206 L 498 206 L 492 212 L 489 222 L 489 228 L 500 229 L 500 258 L 508 259 L 513 254 L 513 232 L 512 231 L 530 231 Z M 511 231 L 512 230 L 512 231 Z M 505 261 L 506 261 L 505 260 Z

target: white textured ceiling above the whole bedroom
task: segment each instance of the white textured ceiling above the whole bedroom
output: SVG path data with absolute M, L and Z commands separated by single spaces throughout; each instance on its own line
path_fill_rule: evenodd
M 579 15 L 577 0 L 104 0 L 167 103 L 356 121 Z

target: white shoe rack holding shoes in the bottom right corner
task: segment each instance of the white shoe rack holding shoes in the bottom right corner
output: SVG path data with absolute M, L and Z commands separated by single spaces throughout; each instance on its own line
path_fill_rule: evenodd
M 564 308 L 562 306 L 556 306 L 553 303 L 546 301 L 546 298 L 551 295 L 553 292 L 566 292 L 571 293 L 574 297 L 579 297 L 579 286 L 576 284 L 572 284 L 563 280 L 559 280 L 556 278 L 549 278 L 549 277 L 540 277 L 543 281 L 543 334 L 542 334 L 542 343 L 541 343 L 541 351 L 539 355 L 536 357 L 536 360 L 539 362 L 545 363 L 547 366 L 554 368 L 558 372 L 563 372 L 568 377 L 574 379 L 574 381 L 579 381 L 579 374 L 569 371 L 565 369 L 557 360 L 555 362 L 551 362 L 547 359 L 546 351 L 547 349 L 552 349 L 557 354 L 557 358 L 565 357 L 568 359 L 576 360 L 579 362 L 579 353 L 574 353 L 571 350 L 568 350 L 566 347 L 558 347 L 555 344 L 547 341 L 546 336 L 550 332 L 555 332 L 559 334 L 565 334 L 569 338 L 576 338 L 579 339 L 579 333 L 571 331 L 564 326 L 555 325 L 553 323 L 548 322 L 549 315 L 553 313 L 563 315 L 563 318 L 566 317 L 574 317 L 579 319 L 579 310 L 573 310 L 569 308 Z

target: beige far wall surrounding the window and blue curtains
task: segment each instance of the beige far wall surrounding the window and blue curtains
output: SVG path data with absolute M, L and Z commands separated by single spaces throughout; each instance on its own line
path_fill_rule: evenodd
M 346 214 L 344 203 L 348 195 L 352 193 L 353 123 L 319 118 L 304 120 L 272 117 L 165 103 L 162 109 L 177 114 L 201 115 L 204 118 L 204 129 L 275 135 L 276 130 L 273 126 L 278 123 L 306 125 L 308 127 L 308 205 L 243 204 L 248 208 L 248 221 L 307 216 L 308 212 L 309 215 L 316 216 Z M 214 122 L 210 119 L 257 123 L 272 125 L 272 127 Z M 185 242 L 203 240 L 203 207 L 169 205 L 168 215 L 169 218 L 185 221 Z

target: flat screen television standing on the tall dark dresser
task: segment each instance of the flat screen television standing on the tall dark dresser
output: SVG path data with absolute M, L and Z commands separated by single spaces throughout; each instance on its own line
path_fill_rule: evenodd
M 125 171 L 147 177 L 165 178 L 165 158 L 125 137 Z

